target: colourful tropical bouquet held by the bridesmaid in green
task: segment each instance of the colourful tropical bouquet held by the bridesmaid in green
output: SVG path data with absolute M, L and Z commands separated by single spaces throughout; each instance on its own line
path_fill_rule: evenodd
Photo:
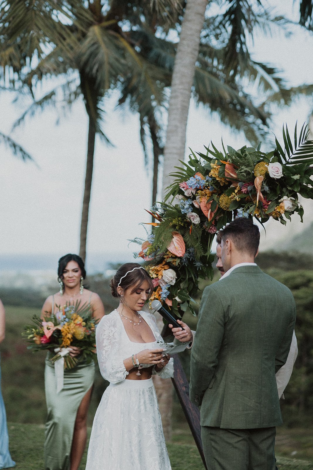
M 90 307 L 87 304 L 58 306 L 53 315 L 47 314 L 44 320 L 38 315 L 33 315 L 32 323 L 26 325 L 22 336 L 29 343 L 28 349 L 33 352 L 41 350 L 54 350 L 70 346 L 80 347 L 82 352 L 78 357 L 64 356 L 64 368 L 71 369 L 78 362 L 87 363 L 95 360 L 96 354 L 96 326 L 92 318 Z M 54 363 L 60 359 L 57 353 L 52 357 Z

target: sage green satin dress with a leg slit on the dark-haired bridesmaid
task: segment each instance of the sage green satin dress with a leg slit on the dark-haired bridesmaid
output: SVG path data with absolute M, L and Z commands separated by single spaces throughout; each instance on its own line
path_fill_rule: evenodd
M 52 313 L 53 309 L 54 298 Z M 69 470 L 77 410 L 93 385 L 95 364 L 80 362 L 73 369 L 65 369 L 63 389 L 57 394 L 54 364 L 49 360 L 53 355 L 48 352 L 45 360 L 45 470 Z

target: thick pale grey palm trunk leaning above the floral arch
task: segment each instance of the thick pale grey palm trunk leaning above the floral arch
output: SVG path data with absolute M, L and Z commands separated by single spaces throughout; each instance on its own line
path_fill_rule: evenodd
M 194 68 L 199 53 L 200 33 L 208 0 L 187 0 L 175 57 L 164 149 L 163 188 L 171 184 L 169 173 L 185 156 L 186 126 Z

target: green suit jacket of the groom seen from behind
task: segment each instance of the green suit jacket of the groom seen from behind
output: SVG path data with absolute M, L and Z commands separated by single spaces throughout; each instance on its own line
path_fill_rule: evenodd
M 239 266 L 204 289 L 190 370 L 202 426 L 283 422 L 275 373 L 287 360 L 295 320 L 291 291 L 258 266 Z

